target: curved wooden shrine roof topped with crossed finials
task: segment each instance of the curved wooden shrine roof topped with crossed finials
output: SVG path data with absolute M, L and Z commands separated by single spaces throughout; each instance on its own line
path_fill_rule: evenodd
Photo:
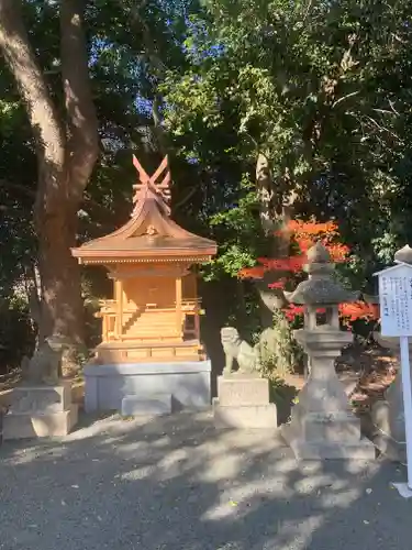
M 71 249 L 80 263 L 185 261 L 200 263 L 216 253 L 216 243 L 185 230 L 170 218 L 167 156 L 152 177 L 133 156 L 140 182 L 134 186 L 131 219 L 116 231 Z M 163 180 L 157 179 L 163 176 Z

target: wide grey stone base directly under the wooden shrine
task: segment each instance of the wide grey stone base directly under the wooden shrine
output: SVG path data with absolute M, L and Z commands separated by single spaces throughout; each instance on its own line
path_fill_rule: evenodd
M 211 362 L 90 364 L 85 367 L 85 409 L 122 410 L 136 395 L 172 395 L 172 409 L 200 410 L 211 404 Z

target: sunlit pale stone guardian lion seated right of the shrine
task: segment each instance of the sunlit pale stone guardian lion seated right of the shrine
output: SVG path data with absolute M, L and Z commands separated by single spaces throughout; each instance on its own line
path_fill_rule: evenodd
M 233 363 L 236 361 L 238 373 L 252 374 L 259 369 L 259 355 L 255 348 L 241 339 L 234 327 L 221 329 L 222 346 L 225 354 L 225 366 L 223 374 L 233 372 Z

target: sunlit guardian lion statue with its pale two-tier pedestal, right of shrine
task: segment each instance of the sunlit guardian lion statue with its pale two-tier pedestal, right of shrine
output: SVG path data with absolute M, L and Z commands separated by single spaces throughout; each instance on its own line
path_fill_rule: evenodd
M 223 376 L 218 377 L 218 398 L 213 399 L 215 427 L 276 429 L 276 405 L 269 402 L 269 381 L 261 378 L 257 370 L 258 351 L 233 327 L 222 329 L 221 334 L 226 364 Z

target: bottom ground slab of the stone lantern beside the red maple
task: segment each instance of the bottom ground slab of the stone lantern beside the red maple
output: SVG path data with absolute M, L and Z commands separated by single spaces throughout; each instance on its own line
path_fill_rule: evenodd
M 376 449 L 368 439 L 358 441 L 305 441 L 296 437 L 289 425 L 281 427 L 281 436 L 292 449 L 297 460 L 375 460 Z

